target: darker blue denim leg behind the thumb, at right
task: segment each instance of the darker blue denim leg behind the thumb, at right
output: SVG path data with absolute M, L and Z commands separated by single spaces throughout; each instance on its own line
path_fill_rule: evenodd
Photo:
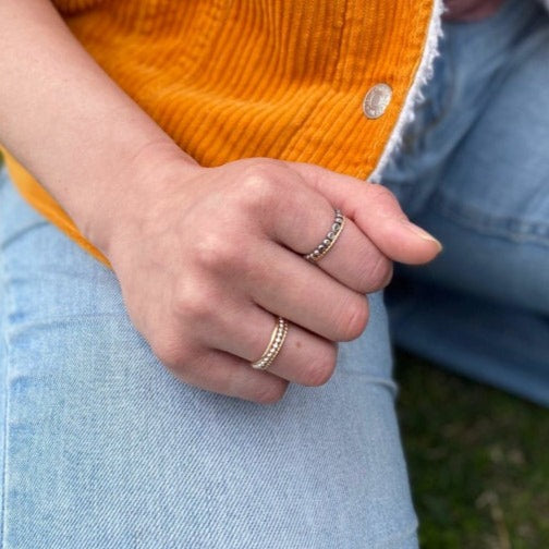
M 382 182 L 446 249 L 399 269 L 392 331 L 454 371 L 549 405 L 549 14 L 505 0 L 443 32 Z

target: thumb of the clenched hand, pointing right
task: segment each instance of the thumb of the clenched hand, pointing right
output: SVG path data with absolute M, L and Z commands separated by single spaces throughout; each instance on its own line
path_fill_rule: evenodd
M 387 187 L 312 163 L 285 163 L 352 219 L 390 259 L 418 265 L 430 261 L 442 251 L 435 236 L 408 221 Z

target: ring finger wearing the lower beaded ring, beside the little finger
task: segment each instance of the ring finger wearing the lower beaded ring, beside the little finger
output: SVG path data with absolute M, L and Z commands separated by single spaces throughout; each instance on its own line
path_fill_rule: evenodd
M 239 356 L 252 368 L 251 363 L 267 350 L 277 321 L 277 316 L 252 302 L 244 305 L 224 303 L 216 326 L 200 343 Z M 337 343 L 289 322 L 282 347 L 268 370 L 295 383 L 320 386 L 333 374 L 337 353 Z

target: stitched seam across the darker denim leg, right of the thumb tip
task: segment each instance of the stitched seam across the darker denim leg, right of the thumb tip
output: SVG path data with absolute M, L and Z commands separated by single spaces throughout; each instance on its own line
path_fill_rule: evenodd
M 463 227 L 474 229 L 480 234 L 501 236 L 513 242 L 530 242 L 549 246 L 549 224 L 547 223 L 527 222 L 521 218 L 490 215 L 474 206 L 449 198 L 440 192 L 432 196 L 432 202 L 440 215 Z

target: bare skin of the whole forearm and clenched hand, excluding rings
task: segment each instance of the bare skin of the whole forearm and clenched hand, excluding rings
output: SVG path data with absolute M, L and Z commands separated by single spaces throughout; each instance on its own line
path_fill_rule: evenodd
M 279 401 L 290 381 L 325 383 L 392 261 L 441 249 L 379 185 L 270 158 L 199 166 L 47 0 L 0 2 L 0 142 L 109 258 L 133 324 L 184 382 L 258 403 Z M 347 222 L 312 265 L 301 254 L 333 208 Z M 290 321 L 286 341 L 255 370 L 277 315 Z

